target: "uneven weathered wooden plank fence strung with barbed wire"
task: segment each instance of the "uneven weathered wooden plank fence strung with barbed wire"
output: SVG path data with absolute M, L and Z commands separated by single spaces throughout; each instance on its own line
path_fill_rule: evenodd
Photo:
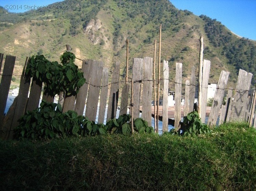
M 71 47 L 67 45 L 67 50 Z M 200 53 L 201 54 L 201 53 Z M 0 66 L 2 65 L 3 54 L 0 54 Z M 13 69 L 15 65 L 15 56 L 6 56 L 4 68 L 2 72 L 2 79 L 0 84 L 0 118 L 3 121 L 0 125 L 2 139 L 12 139 L 13 129 L 18 125 L 17 120 L 25 114 L 26 111 L 32 111 L 39 107 L 40 95 L 42 91 L 42 83 L 30 79 L 26 76 L 25 69 L 28 58 L 21 75 L 19 93 L 15 98 L 12 106 L 7 114 L 4 114 L 8 92 L 10 89 Z M 128 67 L 127 67 L 128 69 Z M 153 74 L 153 58 L 133 58 L 132 59 L 132 81 L 133 81 L 133 101 L 129 101 L 130 82 L 127 82 L 122 91 L 122 98 L 120 105 L 120 114 L 126 114 L 127 108 L 133 108 L 134 119 L 139 117 L 140 106 L 142 106 L 142 118 L 145 119 L 149 125 L 152 123 L 152 74 Z M 168 87 L 169 87 L 169 67 L 168 61 L 163 61 L 163 107 L 162 107 L 162 131 L 168 131 Z M 1 67 L 0 67 L 1 71 Z M 99 103 L 98 122 L 102 123 L 105 116 L 106 102 L 109 95 L 107 120 L 116 117 L 118 98 L 119 98 L 119 83 L 120 80 L 120 62 L 115 62 L 114 71 L 112 72 L 112 80 L 109 82 L 109 69 L 103 67 L 103 63 L 98 60 L 85 59 L 82 64 L 82 71 L 86 78 L 86 83 L 81 87 L 79 93 L 74 96 L 65 97 L 63 102 L 63 112 L 67 110 L 75 110 L 79 115 L 83 115 L 86 105 L 85 116 L 89 120 L 96 120 L 97 107 Z M 205 122 L 206 106 L 207 106 L 207 88 L 210 73 L 210 61 L 202 61 L 202 79 L 201 79 L 201 119 Z M 127 72 L 128 73 L 128 72 Z M 256 93 L 249 94 L 252 74 L 244 70 L 239 71 L 236 89 L 227 88 L 229 72 L 222 71 L 219 76 L 219 81 L 215 91 L 212 108 L 210 111 L 208 125 L 214 126 L 217 123 L 219 116 L 219 123 L 228 121 L 248 121 L 251 126 L 256 126 L 255 118 L 255 102 Z M 195 82 L 195 67 L 191 68 L 190 81 L 182 84 L 182 63 L 176 63 L 175 75 L 175 113 L 174 113 L 174 128 L 179 130 L 181 128 L 181 94 L 182 86 L 185 87 L 185 104 L 184 116 L 195 110 L 194 100 L 196 93 Z M 108 93 L 110 87 L 110 92 Z M 30 89 L 30 94 L 28 96 Z M 226 105 L 222 105 L 225 90 L 228 90 Z M 232 94 L 234 91 L 234 95 Z M 62 93 L 63 95 L 63 93 Z M 53 98 L 47 94 L 43 94 L 43 100 L 53 102 Z M 61 96 L 59 102 L 61 103 Z M 154 102 L 156 103 L 156 102 Z M 131 112 L 131 109 L 130 109 Z M 156 124 L 156 123 L 155 123 Z M 169 123 L 170 124 L 170 123 Z M 156 127 L 155 127 L 156 128 Z

